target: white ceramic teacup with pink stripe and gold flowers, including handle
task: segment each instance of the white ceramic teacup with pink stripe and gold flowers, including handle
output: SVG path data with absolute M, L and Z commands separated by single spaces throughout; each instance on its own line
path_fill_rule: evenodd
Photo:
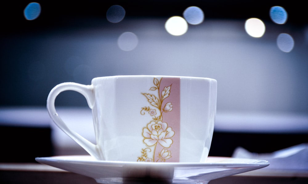
M 66 126 L 60 92 L 81 93 L 92 109 L 96 144 Z M 47 98 L 51 119 L 98 160 L 204 162 L 216 115 L 217 81 L 184 76 L 106 76 L 61 83 Z

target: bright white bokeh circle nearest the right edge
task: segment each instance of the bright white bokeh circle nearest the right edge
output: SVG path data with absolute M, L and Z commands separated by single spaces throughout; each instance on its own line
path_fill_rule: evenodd
M 265 33 L 265 24 L 258 18 L 249 18 L 245 22 L 245 30 L 252 37 L 262 37 Z

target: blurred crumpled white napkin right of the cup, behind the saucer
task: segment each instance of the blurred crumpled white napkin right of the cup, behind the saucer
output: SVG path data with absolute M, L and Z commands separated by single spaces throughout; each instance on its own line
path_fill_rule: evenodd
M 272 153 L 251 153 L 242 147 L 237 147 L 232 157 L 269 161 L 270 165 L 263 169 L 308 171 L 308 143 L 302 143 Z

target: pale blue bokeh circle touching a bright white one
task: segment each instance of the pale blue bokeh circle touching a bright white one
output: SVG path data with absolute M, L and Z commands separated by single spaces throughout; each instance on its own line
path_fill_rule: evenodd
M 197 25 L 203 22 L 204 13 L 197 6 L 190 6 L 184 10 L 183 16 L 189 24 Z

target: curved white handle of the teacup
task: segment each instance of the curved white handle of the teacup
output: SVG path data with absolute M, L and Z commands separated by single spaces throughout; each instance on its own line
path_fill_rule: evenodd
M 91 143 L 83 136 L 79 135 L 75 131 L 72 131 L 67 127 L 63 120 L 59 117 L 55 109 L 55 99 L 63 91 L 76 91 L 81 93 L 87 100 L 89 108 L 93 109 L 95 104 L 95 96 L 93 91 L 93 85 L 83 85 L 74 82 L 64 82 L 56 85 L 50 91 L 47 97 L 47 111 L 51 119 L 55 124 L 64 131 L 69 137 L 71 137 L 76 143 L 78 143 L 84 150 L 86 150 L 91 156 L 99 160 L 104 160 L 103 154 L 97 148 L 98 146 Z

